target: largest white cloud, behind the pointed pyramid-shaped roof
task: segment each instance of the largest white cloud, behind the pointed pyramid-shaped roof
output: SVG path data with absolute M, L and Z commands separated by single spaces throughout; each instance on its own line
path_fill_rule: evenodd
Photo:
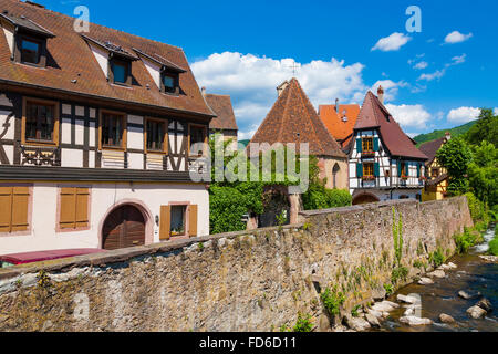
M 300 65 L 295 76 L 314 107 L 333 104 L 335 98 L 343 103 L 363 102 L 369 88 L 362 79 L 364 65 L 346 65 L 334 58 L 300 64 L 293 59 L 225 52 L 193 63 L 191 70 L 208 93 L 231 96 L 240 132 L 250 136 L 277 100 L 276 87 L 291 79 L 293 64 Z

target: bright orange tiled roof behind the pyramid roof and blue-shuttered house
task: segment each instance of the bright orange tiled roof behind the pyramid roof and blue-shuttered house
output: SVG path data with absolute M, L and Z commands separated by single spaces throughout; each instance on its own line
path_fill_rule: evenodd
M 360 110 L 357 104 L 342 104 L 339 105 L 338 113 L 335 105 L 321 105 L 319 114 L 330 134 L 336 140 L 344 140 L 353 134 Z M 346 121 L 343 119 L 344 116 L 347 118 Z

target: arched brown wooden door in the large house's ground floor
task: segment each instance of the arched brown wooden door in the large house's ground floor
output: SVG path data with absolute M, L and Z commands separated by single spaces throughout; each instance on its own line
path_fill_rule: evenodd
M 105 250 L 144 246 L 144 215 L 133 205 L 117 207 L 105 219 L 102 233 L 102 248 Z

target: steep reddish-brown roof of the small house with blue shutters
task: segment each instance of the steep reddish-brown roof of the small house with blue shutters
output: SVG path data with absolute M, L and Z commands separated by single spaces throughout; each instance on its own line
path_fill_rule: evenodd
M 392 156 L 427 159 L 427 156 L 416 148 L 393 118 L 387 108 L 371 91 L 366 93 L 362 110 L 354 126 L 355 131 L 378 128 L 381 138 Z

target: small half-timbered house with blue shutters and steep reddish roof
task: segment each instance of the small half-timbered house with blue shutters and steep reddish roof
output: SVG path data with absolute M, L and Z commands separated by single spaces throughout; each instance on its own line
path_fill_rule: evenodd
M 422 198 L 427 156 L 416 148 L 378 97 L 369 91 L 350 153 L 353 204 Z

